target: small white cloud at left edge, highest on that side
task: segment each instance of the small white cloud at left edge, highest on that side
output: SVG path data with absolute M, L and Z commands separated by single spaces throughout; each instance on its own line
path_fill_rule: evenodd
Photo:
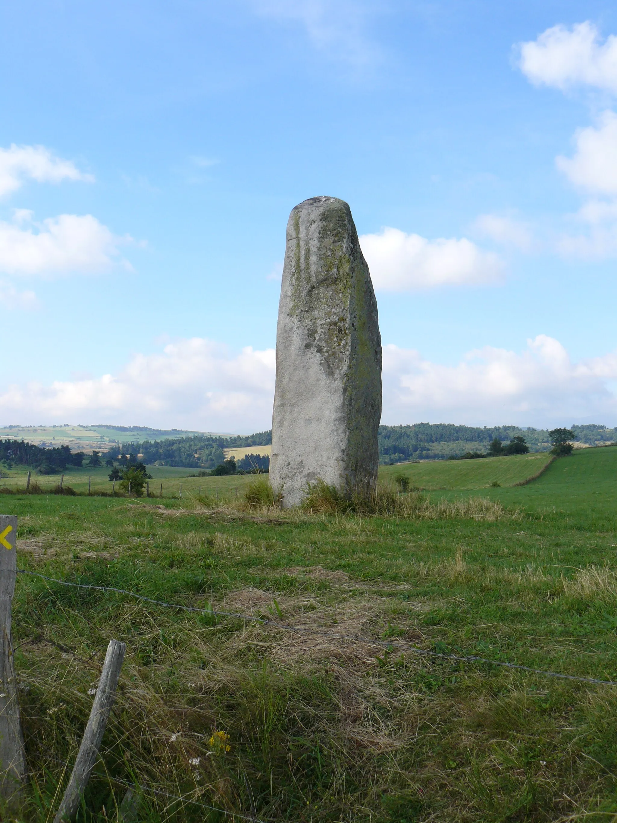
M 94 177 L 84 174 L 71 160 L 53 156 L 44 146 L 16 146 L 0 148 L 0 197 L 16 191 L 24 180 L 37 183 L 60 183 L 62 180 L 83 180 L 91 183 Z

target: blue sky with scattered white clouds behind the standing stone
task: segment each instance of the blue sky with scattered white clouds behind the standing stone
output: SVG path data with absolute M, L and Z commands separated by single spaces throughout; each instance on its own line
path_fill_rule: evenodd
M 2 2 L 0 424 L 271 418 L 285 224 L 350 203 L 387 423 L 617 425 L 608 2 Z

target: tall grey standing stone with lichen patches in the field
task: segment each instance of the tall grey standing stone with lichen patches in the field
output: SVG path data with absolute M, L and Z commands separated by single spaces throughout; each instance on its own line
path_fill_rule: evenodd
M 287 223 L 276 328 L 270 481 L 285 508 L 318 480 L 345 495 L 374 489 L 381 371 L 377 302 L 350 207 L 305 200 Z

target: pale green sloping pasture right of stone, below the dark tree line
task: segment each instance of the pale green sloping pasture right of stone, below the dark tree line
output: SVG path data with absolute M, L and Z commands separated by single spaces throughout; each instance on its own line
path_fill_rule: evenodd
M 398 475 L 405 475 L 411 485 L 421 489 L 485 489 L 491 483 L 516 486 L 535 477 L 551 459 L 552 455 L 541 452 L 477 460 L 402 463 L 381 467 L 379 477 L 391 481 Z

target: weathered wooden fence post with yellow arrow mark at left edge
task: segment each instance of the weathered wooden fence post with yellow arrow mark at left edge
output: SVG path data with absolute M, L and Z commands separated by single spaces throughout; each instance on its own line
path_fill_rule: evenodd
M 17 518 L 0 514 L 0 792 L 12 797 L 26 774 L 24 737 L 11 646 L 11 600 L 15 591 Z

